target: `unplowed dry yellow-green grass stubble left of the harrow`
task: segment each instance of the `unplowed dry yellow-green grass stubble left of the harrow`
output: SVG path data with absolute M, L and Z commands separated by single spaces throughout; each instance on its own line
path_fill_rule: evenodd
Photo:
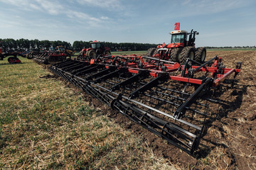
M 31 60 L 0 61 L 0 169 L 175 169 Z

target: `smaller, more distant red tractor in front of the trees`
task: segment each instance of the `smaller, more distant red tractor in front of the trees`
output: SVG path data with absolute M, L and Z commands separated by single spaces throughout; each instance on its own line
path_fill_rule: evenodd
M 105 47 L 102 42 L 97 40 L 90 42 L 90 48 L 83 48 L 78 55 L 77 60 L 87 60 L 95 58 L 96 56 L 107 56 L 111 55 L 110 47 Z

